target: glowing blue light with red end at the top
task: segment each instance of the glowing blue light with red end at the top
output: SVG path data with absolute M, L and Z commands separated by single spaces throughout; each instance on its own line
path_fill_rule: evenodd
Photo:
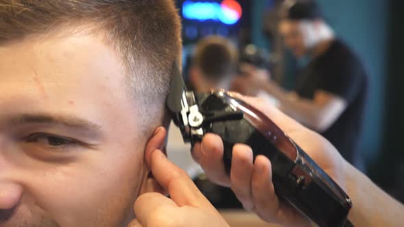
M 240 19 L 237 12 L 216 2 L 185 1 L 182 5 L 182 14 L 189 20 L 220 21 L 226 25 L 233 25 Z

